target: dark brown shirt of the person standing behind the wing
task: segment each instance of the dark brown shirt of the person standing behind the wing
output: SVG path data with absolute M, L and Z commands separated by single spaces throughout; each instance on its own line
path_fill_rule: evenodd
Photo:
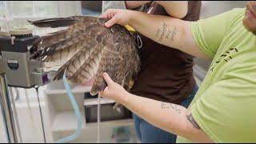
M 156 3 L 150 5 L 150 14 L 169 15 L 162 6 Z M 146 10 L 149 8 L 150 6 L 147 6 Z M 188 14 L 182 19 L 197 21 L 200 9 L 201 1 L 189 2 Z M 182 102 L 192 93 L 195 86 L 193 57 L 139 35 L 143 44 L 140 49 L 142 70 L 131 93 L 163 102 Z

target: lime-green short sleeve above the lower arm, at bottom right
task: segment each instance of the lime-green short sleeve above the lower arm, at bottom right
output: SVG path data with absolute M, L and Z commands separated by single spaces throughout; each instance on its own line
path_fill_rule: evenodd
M 191 106 L 195 121 L 214 142 L 256 142 L 255 69 L 226 74 Z

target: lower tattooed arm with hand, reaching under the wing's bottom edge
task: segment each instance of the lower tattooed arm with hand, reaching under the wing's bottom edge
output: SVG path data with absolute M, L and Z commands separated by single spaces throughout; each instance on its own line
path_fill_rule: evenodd
M 211 142 L 194 121 L 190 110 L 183 106 L 130 94 L 122 86 L 113 82 L 107 74 L 103 74 L 103 77 L 107 87 L 100 94 L 102 97 L 122 103 L 123 106 L 162 130 L 189 138 L 194 142 Z

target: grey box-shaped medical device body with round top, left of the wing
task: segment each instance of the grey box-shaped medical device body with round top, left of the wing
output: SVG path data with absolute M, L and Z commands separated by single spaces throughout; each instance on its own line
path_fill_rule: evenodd
M 31 32 L 18 30 L 13 31 L 11 37 L 0 36 L 1 70 L 6 74 L 8 86 L 31 88 L 50 82 L 47 73 L 42 72 L 42 62 L 29 59 L 30 47 L 38 38 Z

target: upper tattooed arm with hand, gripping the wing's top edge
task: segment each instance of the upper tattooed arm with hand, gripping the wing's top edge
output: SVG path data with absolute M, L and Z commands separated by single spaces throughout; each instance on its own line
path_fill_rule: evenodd
M 174 47 L 198 58 L 209 58 L 194 42 L 190 23 L 168 16 L 145 14 L 133 10 L 107 10 L 102 18 L 109 18 L 106 27 L 118 23 L 130 25 L 139 33 L 165 46 Z

